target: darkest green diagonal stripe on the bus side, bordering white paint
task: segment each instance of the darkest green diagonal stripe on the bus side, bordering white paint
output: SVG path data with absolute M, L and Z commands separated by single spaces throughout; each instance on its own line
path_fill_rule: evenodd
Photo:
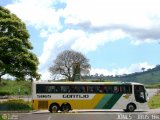
M 108 102 L 103 106 L 103 109 L 111 109 L 116 102 L 119 100 L 119 98 L 122 96 L 122 94 L 114 94 Z

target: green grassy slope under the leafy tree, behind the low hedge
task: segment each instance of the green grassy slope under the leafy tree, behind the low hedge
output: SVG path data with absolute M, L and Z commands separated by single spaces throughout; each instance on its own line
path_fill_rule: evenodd
M 0 95 L 30 95 L 30 81 L 3 80 L 0 84 Z

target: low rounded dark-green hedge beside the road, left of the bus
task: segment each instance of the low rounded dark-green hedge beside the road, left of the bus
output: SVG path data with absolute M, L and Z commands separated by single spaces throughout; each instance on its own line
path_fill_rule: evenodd
M 23 100 L 4 101 L 0 106 L 0 110 L 31 110 L 31 103 Z

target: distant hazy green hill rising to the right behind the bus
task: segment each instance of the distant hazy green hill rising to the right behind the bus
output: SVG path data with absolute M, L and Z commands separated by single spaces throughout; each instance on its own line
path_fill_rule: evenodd
M 122 82 L 139 82 L 143 84 L 158 84 L 160 83 L 160 65 L 153 69 L 136 72 L 132 74 L 118 76 L 92 75 L 83 77 L 87 81 L 122 81 Z

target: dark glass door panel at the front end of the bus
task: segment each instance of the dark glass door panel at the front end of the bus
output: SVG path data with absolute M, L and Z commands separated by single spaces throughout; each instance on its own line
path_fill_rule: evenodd
M 146 100 L 146 91 L 143 85 L 135 85 L 134 86 L 134 95 L 136 102 L 145 103 Z

